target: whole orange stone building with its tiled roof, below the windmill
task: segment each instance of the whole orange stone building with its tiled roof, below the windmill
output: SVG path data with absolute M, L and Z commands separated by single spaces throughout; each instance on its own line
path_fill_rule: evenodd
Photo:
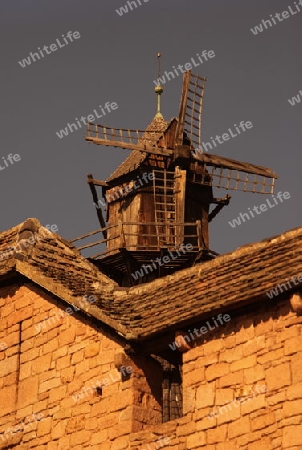
M 0 450 L 301 450 L 302 289 L 266 295 L 302 273 L 301 243 L 293 230 L 131 289 L 54 234 L 0 262 Z M 183 415 L 162 423 L 165 358 Z

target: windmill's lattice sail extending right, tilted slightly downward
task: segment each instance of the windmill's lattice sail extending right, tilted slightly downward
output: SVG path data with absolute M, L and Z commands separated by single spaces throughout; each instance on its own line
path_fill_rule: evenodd
M 271 169 L 217 155 L 195 152 L 192 156 L 206 168 L 207 176 L 199 175 L 202 184 L 234 191 L 273 194 L 278 176 Z

